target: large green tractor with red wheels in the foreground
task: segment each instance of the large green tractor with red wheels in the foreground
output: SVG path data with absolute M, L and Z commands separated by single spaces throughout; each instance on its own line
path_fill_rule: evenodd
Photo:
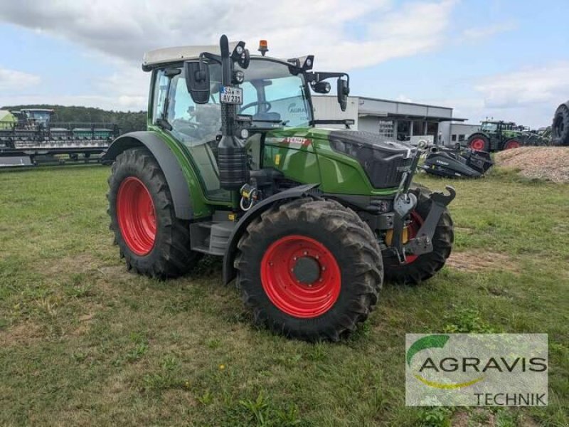
M 156 278 L 223 257 L 259 324 L 309 341 L 355 330 L 383 278 L 420 283 L 445 265 L 455 192 L 412 184 L 420 150 L 316 127 L 311 91 L 349 76 L 313 56 L 250 56 L 245 43 L 151 51 L 148 130 L 105 154 L 110 228 L 127 268 Z M 348 127 L 346 125 L 346 127 Z

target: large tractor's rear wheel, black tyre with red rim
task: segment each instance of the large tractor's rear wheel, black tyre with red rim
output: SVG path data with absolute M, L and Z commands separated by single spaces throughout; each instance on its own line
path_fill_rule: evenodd
M 110 230 L 128 270 L 164 279 L 196 264 L 188 222 L 176 218 L 166 177 L 146 148 L 119 154 L 108 184 Z

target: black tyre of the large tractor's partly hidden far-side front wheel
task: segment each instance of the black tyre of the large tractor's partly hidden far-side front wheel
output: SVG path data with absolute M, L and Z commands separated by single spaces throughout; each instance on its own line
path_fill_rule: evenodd
M 425 186 L 416 184 L 413 185 L 411 191 L 417 196 L 417 206 L 415 206 L 413 216 L 418 216 L 425 221 L 432 204 L 430 191 Z M 437 223 L 435 234 L 432 236 L 432 252 L 418 255 L 414 260 L 403 265 L 395 256 L 385 256 L 383 258 L 385 281 L 417 285 L 431 278 L 447 262 L 453 242 L 454 226 L 449 211 L 445 209 Z

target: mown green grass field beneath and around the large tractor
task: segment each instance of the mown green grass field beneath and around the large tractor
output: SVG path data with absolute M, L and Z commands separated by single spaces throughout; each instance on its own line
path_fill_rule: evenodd
M 0 425 L 569 425 L 569 185 L 452 182 L 449 265 L 386 283 L 349 340 L 307 344 L 252 327 L 218 260 L 166 282 L 127 273 L 108 173 L 0 173 Z M 547 332 L 550 405 L 405 407 L 405 333 L 443 331 Z

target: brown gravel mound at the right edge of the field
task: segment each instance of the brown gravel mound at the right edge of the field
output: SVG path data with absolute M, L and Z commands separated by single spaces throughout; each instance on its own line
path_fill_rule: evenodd
M 496 153 L 501 167 L 519 169 L 521 176 L 569 182 L 569 147 L 520 147 Z

